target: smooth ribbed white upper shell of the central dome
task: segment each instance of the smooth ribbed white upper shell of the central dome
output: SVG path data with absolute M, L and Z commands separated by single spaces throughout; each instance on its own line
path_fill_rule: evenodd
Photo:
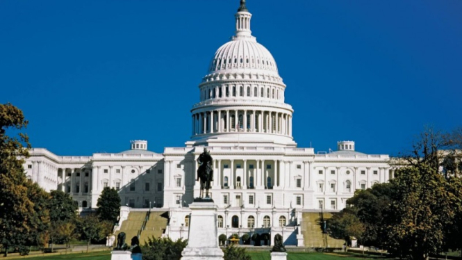
M 255 38 L 235 37 L 216 52 L 211 61 L 209 73 L 223 70 L 256 69 L 277 73 L 273 56 Z

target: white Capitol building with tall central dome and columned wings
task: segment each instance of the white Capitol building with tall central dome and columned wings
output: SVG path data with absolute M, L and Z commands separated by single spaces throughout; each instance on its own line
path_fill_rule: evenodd
M 200 99 L 184 122 L 191 128 L 184 147 L 157 154 L 147 140 L 132 140 L 126 151 L 92 156 L 33 148 L 24 163 L 27 177 L 47 191 L 69 193 L 83 211 L 97 206 L 104 187 L 115 188 L 123 211 L 167 211 L 165 235 L 188 238 L 182 227 L 199 196 L 196 160 L 206 148 L 213 157 L 218 234 L 267 229 L 272 237 L 282 233 L 288 245 L 303 245 L 297 227 L 304 212 L 339 211 L 355 190 L 388 181 L 394 170 L 388 155 L 356 152 L 354 141 L 339 141 L 329 153 L 297 147 L 292 120 L 303 115 L 292 117 L 286 84 L 270 51 L 252 35 L 251 17 L 241 1 L 235 35 L 215 51 L 199 83 Z

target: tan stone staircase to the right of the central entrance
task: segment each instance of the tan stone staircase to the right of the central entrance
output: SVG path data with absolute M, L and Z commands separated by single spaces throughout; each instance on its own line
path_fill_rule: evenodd
M 302 235 L 305 247 L 337 247 L 342 248 L 342 239 L 336 239 L 329 234 L 322 233 L 322 219 L 327 220 L 332 217 L 332 213 L 304 212 L 302 213 Z

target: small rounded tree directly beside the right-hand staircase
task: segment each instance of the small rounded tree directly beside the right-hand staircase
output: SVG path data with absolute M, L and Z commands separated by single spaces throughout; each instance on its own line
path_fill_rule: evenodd
M 334 214 L 327 220 L 327 224 L 329 235 L 333 238 L 344 239 L 345 243 L 349 243 L 352 236 L 361 240 L 365 230 L 353 208 L 345 208 L 340 213 Z

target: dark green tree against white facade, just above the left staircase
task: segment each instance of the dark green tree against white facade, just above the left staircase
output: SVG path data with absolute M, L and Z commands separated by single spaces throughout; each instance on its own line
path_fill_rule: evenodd
M 120 215 L 120 197 L 115 188 L 104 188 L 98 198 L 97 213 L 100 220 L 117 222 Z

